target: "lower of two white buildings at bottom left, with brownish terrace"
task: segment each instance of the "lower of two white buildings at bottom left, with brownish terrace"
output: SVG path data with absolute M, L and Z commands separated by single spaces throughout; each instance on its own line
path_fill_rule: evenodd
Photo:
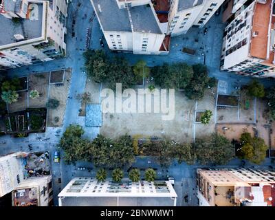
M 52 176 L 32 177 L 12 191 L 12 206 L 52 206 Z

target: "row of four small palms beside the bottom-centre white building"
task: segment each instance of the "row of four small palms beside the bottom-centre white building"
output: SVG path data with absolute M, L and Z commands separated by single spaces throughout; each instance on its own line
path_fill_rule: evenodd
M 113 181 L 120 182 L 124 177 L 123 170 L 121 168 L 115 168 L 112 172 L 112 179 Z M 157 173 L 153 168 L 148 168 L 145 170 L 144 179 L 146 181 L 154 181 L 157 178 Z M 104 168 L 98 169 L 96 173 L 96 179 L 98 181 L 105 181 L 107 179 L 107 170 Z M 140 181 L 140 170 L 137 168 L 132 168 L 129 172 L 129 179 L 133 182 Z

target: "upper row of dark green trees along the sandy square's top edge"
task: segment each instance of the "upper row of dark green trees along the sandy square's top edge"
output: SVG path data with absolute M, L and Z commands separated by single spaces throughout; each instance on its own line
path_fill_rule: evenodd
M 140 78 L 147 78 L 151 73 L 157 86 L 184 89 L 188 98 L 200 100 L 205 89 L 216 84 L 214 78 L 208 77 L 206 66 L 201 64 L 190 66 L 186 63 L 164 63 L 150 69 L 144 61 L 139 61 L 131 67 L 126 59 L 108 58 L 102 50 L 87 50 L 83 56 L 87 76 L 96 83 L 107 83 L 111 89 L 115 89 L 116 83 L 122 83 L 123 89 L 131 88 Z

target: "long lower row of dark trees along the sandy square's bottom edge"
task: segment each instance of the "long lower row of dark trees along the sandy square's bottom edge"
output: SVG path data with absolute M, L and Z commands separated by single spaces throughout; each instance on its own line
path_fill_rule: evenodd
M 195 144 L 148 140 L 137 148 L 129 135 L 123 135 L 117 140 L 98 135 L 89 141 L 82 137 L 83 133 L 81 126 L 71 125 L 61 137 L 59 147 L 63 149 L 68 164 L 87 161 L 97 167 L 120 168 L 135 162 L 136 155 L 153 156 L 162 166 L 170 166 L 175 160 L 187 164 L 227 164 L 234 157 L 234 146 L 217 133 L 197 139 Z

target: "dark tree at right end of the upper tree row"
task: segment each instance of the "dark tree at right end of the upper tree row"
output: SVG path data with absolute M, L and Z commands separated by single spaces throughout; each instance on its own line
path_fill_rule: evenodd
M 186 86 L 185 95 L 189 99 L 201 100 L 204 96 L 205 89 L 214 87 L 216 80 L 208 76 L 208 70 L 205 65 L 193 65 L 192 69 L 194 74 L 190 83 Z

